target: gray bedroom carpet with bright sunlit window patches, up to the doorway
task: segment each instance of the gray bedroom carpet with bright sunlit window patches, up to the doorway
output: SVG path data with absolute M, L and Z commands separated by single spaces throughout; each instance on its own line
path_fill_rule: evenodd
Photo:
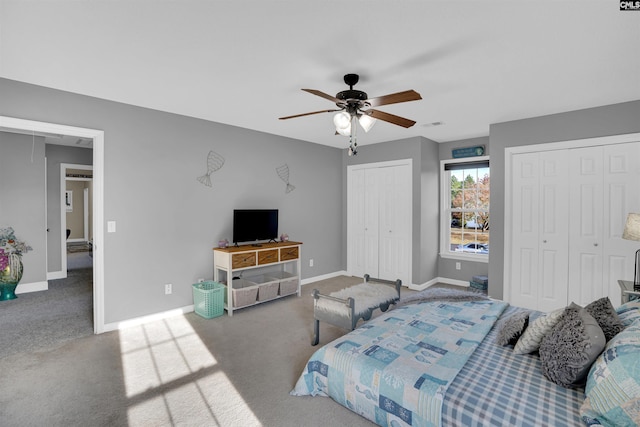
M 42 340 L 37 349 L 25 346 L 2 359 L 0 424 L 372 426 L 329 398 L 289 395 L 309 357 L 346 332 L 322 324 L 320 346 L 310 345 L 312 289 L 328 293 L 361 280 L 316 282 L 303 287 L 302 297 L 233 317 L 188 313 L 50 344 L 47 335 L 62 323 L 42 322 L 31 338 Z

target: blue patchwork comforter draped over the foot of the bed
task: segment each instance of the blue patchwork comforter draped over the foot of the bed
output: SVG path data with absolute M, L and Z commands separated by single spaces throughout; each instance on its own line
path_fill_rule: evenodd
M 329 396 L 381 426 L 440 426 L 447 388 L 507 305 L 392 310 L 316 351 L 291 394 Z

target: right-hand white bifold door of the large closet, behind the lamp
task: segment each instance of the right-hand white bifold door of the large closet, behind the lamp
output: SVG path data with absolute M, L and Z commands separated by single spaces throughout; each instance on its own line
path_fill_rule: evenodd
M 582 306 L 604 296 L 617 306 L 618 279 L 633 271 L 622 232 L 640 207 L 640 143 L 573 149 L 569 173 L 569 295 Z

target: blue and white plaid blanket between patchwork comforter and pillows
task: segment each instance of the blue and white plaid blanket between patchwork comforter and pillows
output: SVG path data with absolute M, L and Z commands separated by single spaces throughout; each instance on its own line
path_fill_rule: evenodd
M 509 307 L 503 316 L 522 310 Z M 582 389 L 566 389 L 542 374 L 537 354 L 513 354 L 495 344 L 495 330 L 476 349 L 449 386 L 442 425 L 584 426 Z

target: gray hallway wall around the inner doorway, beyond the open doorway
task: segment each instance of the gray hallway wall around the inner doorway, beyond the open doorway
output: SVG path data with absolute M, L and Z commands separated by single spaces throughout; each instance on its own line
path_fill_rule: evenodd
M 60 164 L 92 165 L 93 150 L 46 144 L 47 157 L 47 270 L 62 270 L 60 234 Z

